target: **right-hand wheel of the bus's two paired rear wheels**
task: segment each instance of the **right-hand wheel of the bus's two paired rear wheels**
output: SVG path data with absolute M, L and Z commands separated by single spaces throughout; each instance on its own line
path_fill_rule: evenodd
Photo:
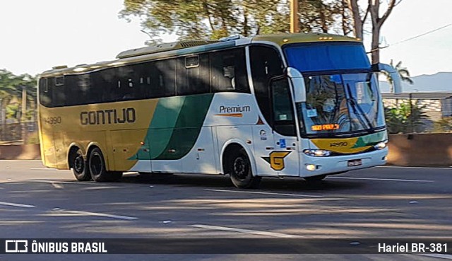
M 96 182 L 116 181 L 122 177 L 121 172 L 107 171 L 104 156 L 99 148 L 94 148 L 91 151 L 88 166 L 90 168 L 91 178 Z

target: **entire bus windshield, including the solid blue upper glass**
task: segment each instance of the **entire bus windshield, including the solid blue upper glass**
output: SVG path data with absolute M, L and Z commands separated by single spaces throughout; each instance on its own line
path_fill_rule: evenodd
M 297 103 L 302 134 L 373 132 L 385 126 L 376 76 L 355 42 L 290 45 L 289 66 L 304 74 L 307 102 Z

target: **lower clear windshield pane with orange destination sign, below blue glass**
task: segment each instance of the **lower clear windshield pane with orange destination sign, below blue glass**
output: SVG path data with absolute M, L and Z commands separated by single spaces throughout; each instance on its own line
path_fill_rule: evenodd
M 384 127 L 374 74 L 307 76 L 305 82 L 307 102 L 297 103 L 302 132 L 340 134 Z

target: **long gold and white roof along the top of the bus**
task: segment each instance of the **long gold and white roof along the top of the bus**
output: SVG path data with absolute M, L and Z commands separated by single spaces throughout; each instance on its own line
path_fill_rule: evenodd
M 246 45 L 251 42 L 273 42 L 283 46 L 296 42 L 359 42 L 358 38 L 326 33 L 280 33 L 273 35 L 256 35 L 253 37 L 227 37 L 220 41 L 183 41 L 170 42 L 160 45 L 141 47 L 120 52 L 117 59 L 95 64 L 80 64 L 68 68 L 67 66 L 55 66 L 52 70 L 44 71 L 40 76 L 62 76 L 65 74 L 83 74 L 89 71 L 97 71 L 125 64 L 136 64 L 153 59 L 175 57 L 179 55 L 206 52 L 210 50 L 222 50 L 228 47 Z

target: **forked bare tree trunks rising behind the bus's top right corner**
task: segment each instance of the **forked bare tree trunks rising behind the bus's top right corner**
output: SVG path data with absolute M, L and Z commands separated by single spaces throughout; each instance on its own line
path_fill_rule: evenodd
M 367 8 L 365 8 L 365 12 L 362 12 L 358 5 L 358 0 L 347 0 L 352 10 L 353 15 L 353 28 L 355 32 L 355 36 L 359 38 L 363 38 L 363 28 L 364 23 L 367 19 L 368 14 L 370 13 L 371 17 L 371 57 L 372 64 L 378 64 L 380 62 L 380 30 L 383 26 L 383 23 L 386 21 L 388 16 L 393 11 L 393 8 L 396 7 L 402 0 L 388 0 L 388 7 L 386 11 L 383 13 L 383 16 L 380 16 L 380 5 L 381 0 L 368 0 Z M 363 14 L 364 13 L 364 16 Z

